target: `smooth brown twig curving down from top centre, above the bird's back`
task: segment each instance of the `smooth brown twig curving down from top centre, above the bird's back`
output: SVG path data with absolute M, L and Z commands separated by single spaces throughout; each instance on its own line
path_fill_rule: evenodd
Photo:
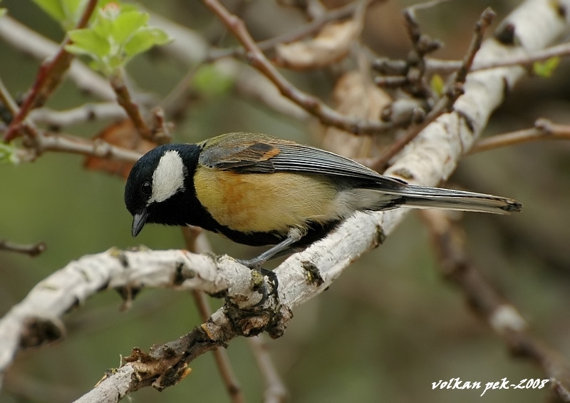
M 227 26 L 232 34 L 238 39 L 246 51 L 246 56 L 252 66 L 257 68 L 264 76 L 274 83 L 279 92 L 286 98 L 304 108 L 305 111 L 316 116 L 323 125 L 335 126 L 351 133 L 383 133 L 395 127 L 392 123 L 381 121 L 365 121 L 360 118 L 343 116 L 332 108 L 326 106 L 320 99 L 308 93 L 299 91 L 279 71 L 271 64 L 266 56 L 261 52 L 252 36 L 247 31 L 244 21 L 229 13 L 227 9 L 217 0 L 203 0 L 207 6 L 219 19 Z

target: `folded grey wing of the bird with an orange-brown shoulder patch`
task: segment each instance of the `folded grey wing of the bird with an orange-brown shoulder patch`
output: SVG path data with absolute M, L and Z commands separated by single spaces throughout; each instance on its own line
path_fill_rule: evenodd
M 232 137 L 219 139 L 212 145 L 206 143 L 199 162 L 237 173 L 294 172 L 358 178 L 396 188 L 405 184 L 342 155 L 269 136 Z

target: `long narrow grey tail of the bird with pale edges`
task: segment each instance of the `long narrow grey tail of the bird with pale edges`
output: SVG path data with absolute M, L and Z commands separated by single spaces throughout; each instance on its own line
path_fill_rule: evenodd
M 393 193 L 390 191 L 386 193 L 399 195 L 401 198 L 398 204 L 403 207 L 441 208 L 494 214 L 509 214 L 522 209 L 522 204 L 517 200 L 463 190 L 407 185 Z

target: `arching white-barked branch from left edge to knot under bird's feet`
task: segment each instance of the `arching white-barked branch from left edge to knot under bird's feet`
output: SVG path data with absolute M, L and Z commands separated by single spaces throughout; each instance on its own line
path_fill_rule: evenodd
M 251 290 L 250 276 L 247 267 L 232 259 L 216 263 L 213 257 L 183 250 L 111 249 L 83 256 L 39 282 L 0 320 L 0 374 L 21 345 L 32 347 L 61 337 L 60 318 L 101 290 L 172 287 L 209 294 L 227 292 L 238 305 L 253 305 L 261 295 Z

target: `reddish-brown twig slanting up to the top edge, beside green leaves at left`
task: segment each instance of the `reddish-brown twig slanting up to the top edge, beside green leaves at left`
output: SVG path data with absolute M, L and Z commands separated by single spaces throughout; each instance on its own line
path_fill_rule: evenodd
M 95 6 L 97 6 L 97 0 L 88 1 L 75 29 L 81 29 L 86 26 L 91 14 L 93 14 L 95 10 Z M 42 106 L 58 87 L 59 83 L 61 83 L 63 75 L 68 71 L 69 66 L 71 66 L 71 61 L 75 57 L 65 49 L 70 43 L 71 40 L 66 37 L 58 53 L 56 53 L 53 58 L 41 64 L 36 76 L 36 81 L 33 83 L 28 96 L 24 99 L 19 113 L 14 116 L 14 119 L 4 134 L 4 141 L 8 142 L 14 140 L 14 138 L 18 136 L 20 123 L 24 122 L 28 113 L 30 113 L 33 108 Z

